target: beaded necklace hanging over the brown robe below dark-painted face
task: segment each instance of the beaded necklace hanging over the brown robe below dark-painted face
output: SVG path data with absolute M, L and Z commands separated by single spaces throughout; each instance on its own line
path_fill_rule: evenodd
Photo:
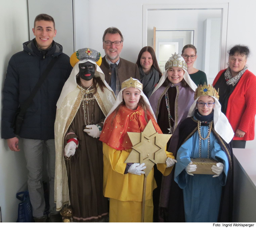
M 93 113 L 94 113 L 94 96 L 93 97 L 89 97 L 89 95 L 92 94 L 92 91 L 94 89 L 89 90 L 91 87 L 93 86 L 93 84 L 88 87 L 86 90 L 83 89 L 83 87 L 81 87 L 81 95 L 82 95 L 82 103 L 83 103 L 83 113 L 84 113 L 84 123 L 85 126 L 84 128 L 86 128 L 87 125 L 93 124 Z M 85 91 L 85 93 L 84 93 Z M 93 103 L 91 103 L 93 102 Z M 91 107 L 91 105 L 93 106 L 93 111 L 91 113 L 91 122 L 89 119 L 89 107 Z M 87 111 L 87 112 L 86 112 Z

